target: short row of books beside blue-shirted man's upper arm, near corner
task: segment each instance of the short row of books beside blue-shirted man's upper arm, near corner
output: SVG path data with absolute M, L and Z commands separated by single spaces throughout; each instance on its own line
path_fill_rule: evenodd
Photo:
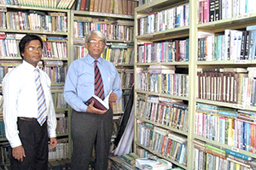
M 117 69 L 119 77 L 121 79 L 122 88 L 131 88 L 134 83 L 134 71 L 133 69 Z

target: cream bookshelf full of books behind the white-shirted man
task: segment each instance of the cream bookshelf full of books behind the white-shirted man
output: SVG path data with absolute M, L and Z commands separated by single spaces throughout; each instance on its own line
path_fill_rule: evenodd
M 26 33 L 42 37 L 44 54 L 39 67 L 49 75 L 52 82 L 51 92 L 57 117 L 57 140 L 60 142 L 57 147 L 58 150 L 63 151 L 62 156 L 60 154 L 57 157 L 52 156 L 56 154 L 56 150 L 51 150 L 50 154 L 52 159 L 70 158 L 71 111 L 63 98 L 67 65 L 70 63 L 68 57 L 70 56 L 70 10 L 1 4 L 0 13 L 1 82 L 4 75 L 22 61 L 18 48 L 20 39 Z M 1 144 L 6 142 L 8 141 L 3 136 Z

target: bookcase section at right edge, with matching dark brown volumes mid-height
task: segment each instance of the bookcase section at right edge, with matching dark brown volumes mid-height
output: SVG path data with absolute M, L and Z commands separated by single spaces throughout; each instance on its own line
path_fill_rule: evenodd
M 199 11 L 201 8 L 200 3 L 198 6 Z M 223 3 L 223 1 L 220 3 Z M 207 58 L 205 58 L 205 54 L 201 53 L 201 50 L 197 50 L 195 53 L 195 72 L 198 77 L 196 79 L 196 81 L 198 81 L 196 82 L 197 86 L 199 87 L 204 84 L 203 82 L 200 82 L 200 80 L 202 80 L 202 74 L 204 74 L 207 79 L 211 79 L 208 77 L 210 74 L 215 74 L 214 77 L 216 77 L 218 81 L 215 81 L 213 78 L 213 83 L 217 83 L 218 88 L 217 91 L 214 92 L 214 87 L 216 85 L 213 85 L 213 93 L 211 89 L 209 90 L 208 88 L 205 88 L 205 90 L 209 90 L 208 93 L 210 96 L 203 95 L 204 90 L 201 88 L 199 88 L 196 92 L 197 94 L 195 94 L 195 111 L 193 114 L 195 115 L 194 122 L 196 123 L 195 133 L 193 135 L 193 147 L 195 158 L 198 157 L 198 159 L 204 161 L 213 160 L 212 164 L 216 164 L 218 165 L 218 168 L 222 169 L 234 169 L 235 167 L 247 169 L 249 169 L 249 167 L 254 168 L 253 161 L 246 160 L 246 157 L 255 159 L 256 155 L 253 149 L 254 142 L 253 140 L 247 141 L 246 139 L 254 139 L 254 118 L 251 117 L 251 114 L 255 112 L 255 106 L 253 105 L 253 93 L 255 89 L 248 89 L 248 87 L 251 86 L 244 83 L 249 80 L 253 82 L 254 79 L 252 75 L 248 76 L 251 74 L 249 68 L 255 67 L 255 59 L 250 55 L 252 54 L 251 48 L 253 44 L 250 45 L 250 43 L 244 39 L 235 40 L 235 37 L 238 37 L 238 35 L 240 35 L 241 38 L 246 37 L 245 39 L 247 40 L 251 37 L 251 33 L 247 30 L 247 26 L 254 26 L 256 24 L 255 10 L 253 10 L 251 5 L 252 2 L 250 1 L 240 4 L 235 2 L 228 8 L 231 9 L 232 12 L 221 14 L 219 20 L 216 20 L 216 18 L 212 21 L 202 20 L 201 13 L 204 13 L 203 11 L 199 13 L 196 18 L 195 35 L 197 35 L 197 37 L 195 37 L 194 41 L 196 46 L 201 46 L 201 42 L 203 42 L 204 39 L 208 40 L 212 37 L 215 39 L 223 38 L 222 41 L 218 41 L 222 43 L 224 42 L 224 46 L 218 48 L 219 42 L 212 42 L 214 44 L 214 48 L 212 47 L 214 53 L 211 53 L 210 56 L 207 54 Z M 219 9 L 219 11 L 220 10 L 221 9 Z M 208 35 L 206 36 L 205 33 Z M 228 36 L 229 34 L 230 37 Z M 241 45 L 241 43 L 239 44 L 236 42 L 241 42 L 244 46 Z M 235 49 L 238 49 L 237 52 Z M 218 54 L 220 51 L 221 55 Z M 210 70 L 207 71 L 206 68 L 209 68 Z M 217 70 L 213 71 L 213 69 Z M 232 76 L 229 77 L 228 75 Z M 234 79 L 233 82 L 233 78 L 235 77 L 236 79 Z M 229 80 L 231 79 L 232 81 L 230 82 Z M 247 95 L 247 93 L 249 94 Z M 250 101 L 248 102 L 245 98 Z M 210 106 L 210 111 L 216 112 L 212 112 L 211 115 L 209 114 L 209 111 L 199 111 L 206 106 Z M 202 116 L 207 117 L 206 120 L 209 118 L 212 119 L 212 121 L 218 121 L 218 124 L 207 124 L 207 126 L 204 127 L 206 129 L 216 127 L 212 130 L 215 134 L 214 138 L 212 138 L 212 134 L 208 135 L 200 130 L 201 127 L 198 127 L 199 122 L 201 122 L 201 114 Z M 250 118 L 247 119 L 247 116 Z M 246 120 L 248 120 L 248 122 L 246 122 Z M 225 125 L 223 123 L 225 123 Z M 248 128 L 245 129 L 244 126 Z M 231 128 L 234 130 L 230 131 Z M 209 150 L 208 145 L 215 147 L 213 152 Z M 205 148 L 206 151 L 202 151 L 202 148 Z M 234 157 L 230 155 L 230 150 Z M 222 152 L 222 154 L 220 152 Z M 221 156 L 224 156 L 224 159 L 221 159 Z M 239 156 L 244 156 L 244 158 L 239 159 Z M 194 160 L 194 162 L 195 169 L 207 166 L 201 161 Z M 224 167 L 220 162 L 223 162 L 223 164 L 227 166 Z

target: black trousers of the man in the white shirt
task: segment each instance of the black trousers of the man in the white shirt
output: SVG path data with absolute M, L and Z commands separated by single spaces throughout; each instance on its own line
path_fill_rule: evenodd
M 26 157 L 23 161 L 10 158 L 12 170 L 47 170 L 48 133 L 47 122 L 41 127 L 35 118 L 18 118 L 18 130 Z M 12 154 L 11 154 L 12 155 Z

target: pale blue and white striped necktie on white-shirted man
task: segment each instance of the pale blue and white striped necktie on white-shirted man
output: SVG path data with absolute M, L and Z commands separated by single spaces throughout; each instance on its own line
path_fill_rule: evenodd
M 39 70 L 35 69 L 35 72 L 36 72 L 35 82 L 36 82 L 37 96 L 38 96 L 37 120 L 38 120 L 38 123 L 42 126 L 46 120 L 47 111 L 46 111 L 46 105 L 45 105 L 44 90 L 42 88 L 42 84 L 40 81 Z

